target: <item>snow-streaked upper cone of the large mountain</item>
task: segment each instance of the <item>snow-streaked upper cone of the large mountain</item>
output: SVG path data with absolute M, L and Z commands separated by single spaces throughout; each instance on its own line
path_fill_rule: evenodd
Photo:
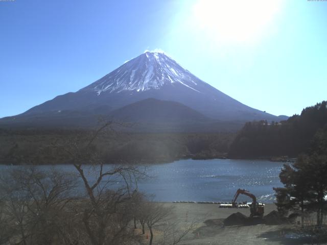
M 119 93 L 124 90 L 139 92 L 181 84 L 199 92 L 198 83 L 204 82 L 166 54 L 146 52 L 81 90 L 93 90 L 100 95 L 103 92 Z

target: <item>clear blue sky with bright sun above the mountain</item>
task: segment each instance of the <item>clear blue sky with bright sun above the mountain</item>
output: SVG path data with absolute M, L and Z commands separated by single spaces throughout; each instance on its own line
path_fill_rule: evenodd
M 0 1 L 0 117 L 77 91 L 156 48 L 275 115 L 327 99 L 327 2 L 218 2 Z

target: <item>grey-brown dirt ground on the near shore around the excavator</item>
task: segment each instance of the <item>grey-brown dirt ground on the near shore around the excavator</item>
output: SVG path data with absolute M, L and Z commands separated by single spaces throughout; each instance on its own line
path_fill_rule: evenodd
M 184 245 L 246 245 L 246 244 L 299 244 L 284 239 L 284 234 L 293 225 L 224 226 L 223 219 L 235 212 L 250 215 L 249 209 L 219 208 L 218 204 L 165 203 L 173 207 L 173 217 L 181 229 L 200 219 L 195 232 L 186 236 Z M 265 215 L 276 210 L 274 204 L 266 204 Z M 283 238 L 283 239 L 282 239 Z M 301 242 L 300 244 L 303 244 Z

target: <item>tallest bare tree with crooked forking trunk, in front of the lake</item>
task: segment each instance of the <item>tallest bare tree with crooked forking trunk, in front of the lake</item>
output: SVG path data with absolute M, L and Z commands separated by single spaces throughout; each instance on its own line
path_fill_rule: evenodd
M 109 121 L 96 131 L 79 135 L 63 149 L 83 182 L 86 191 L 82 222 L 90 244 L 124 244 L 132 237 L 128 229 L 133 219 L 132 193 L 137 180 L 145 176 L 133 165 L 105 165 L 99 156 L 95 142 L 103 133 L 114 134 Z

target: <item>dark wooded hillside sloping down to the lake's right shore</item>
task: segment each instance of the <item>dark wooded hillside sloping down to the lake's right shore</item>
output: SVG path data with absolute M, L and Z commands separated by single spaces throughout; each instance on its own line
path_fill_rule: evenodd
M 247 122 L 231 143 L 230 158 L 296 157 L 310 148 L 319 129 L 327 125 L 327 102 L 302 110 L 281 122 Z

